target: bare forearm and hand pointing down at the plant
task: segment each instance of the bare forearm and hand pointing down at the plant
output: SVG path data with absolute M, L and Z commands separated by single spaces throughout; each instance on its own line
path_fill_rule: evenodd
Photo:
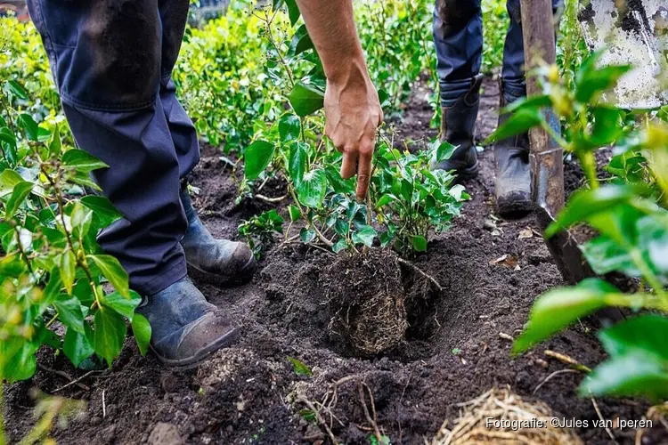
M 297 0 L 297 5 L 327 77 L 325 134 L 343 153 L 341 176 L 357 174 L 356 195 L 363 199 L 383 111 L 354 28 L 352 1 Z

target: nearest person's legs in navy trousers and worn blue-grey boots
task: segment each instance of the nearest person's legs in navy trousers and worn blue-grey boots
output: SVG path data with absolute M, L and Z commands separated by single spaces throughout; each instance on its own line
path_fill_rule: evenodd
M 102 231 L 100 245 L 147 297 L 140 311 L 160 358 L 198 359 L 230 326 L 186 278 L 186 263 L 232 279 L 254 263 L 245 245 L 211 237 L 182 182 L 200 160 L 197 132 L 171 80 L 189 2 L 28 4 L 77 145 L 110 166 L 94 181 L 125 216 Z

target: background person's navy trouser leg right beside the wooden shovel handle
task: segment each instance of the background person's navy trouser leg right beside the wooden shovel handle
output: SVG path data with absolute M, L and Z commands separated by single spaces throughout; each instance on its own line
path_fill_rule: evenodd
M 557 12 L 561 4 L 562 0 L 552 0 L 553 12 Z M 510 25 L 503 46 L 501 79 L 504 93 L 511 96 L 509 99 L 512 99 L 526 95 L 525 51 L 520 0 L 508 0 L 506 7 Z

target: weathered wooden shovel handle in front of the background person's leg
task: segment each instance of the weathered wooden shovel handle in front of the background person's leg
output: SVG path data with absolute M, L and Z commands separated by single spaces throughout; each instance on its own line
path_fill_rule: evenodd
M 521 0 L 521 5 L 526 71 L 541 61 L 554 64 L 557 48 L 551 0 Z M 526 93 L 529 97 L 542 94 L 535 77 L 526 80 Z M 560 132 L 559 120 L 551 109 L 545 110 L 545 120 Z M 542 127 L 531 129 L 529 142 L 534 206 L 554 218 L 564 206 L 563 150 Z

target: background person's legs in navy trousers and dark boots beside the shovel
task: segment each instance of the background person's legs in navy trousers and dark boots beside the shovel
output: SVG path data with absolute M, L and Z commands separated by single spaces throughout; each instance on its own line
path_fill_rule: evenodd
M 481 0 L 436 0 L 434 43 L 440 84 L 444 140 L 459 146 L 452 158 L 436 168 L 456 170 L 460 176 L 477 174 L 477 153 L 473 142 L 483 53 Z M 552 0 L 556 12 L 561 0 Z M 510 25 L 503 47 L 501 105 L 526 94 L 525 54 L 520 0 L 507 0 Z M 502 121 L 507 117 L 501 116 Z M 494 148 L 495 194 L 501 214 L 531 209 L 526 135 L 499 142 Z

